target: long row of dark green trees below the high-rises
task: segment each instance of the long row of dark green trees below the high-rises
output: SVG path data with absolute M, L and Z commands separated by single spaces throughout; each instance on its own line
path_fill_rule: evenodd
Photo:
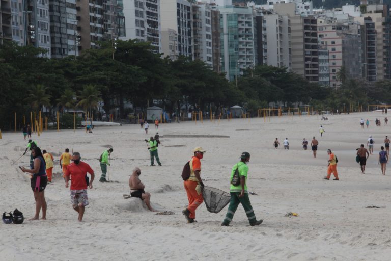
M 63 59 L 44 58 L 45 50 L 33 46 L 0 45 L 0 128 L 13 128 L 15 112 L 29 115 L 43 106 L 52 118 L 57 108 L 66 112 L 77 107 L 93 115 L 100 100 L 107 114 L 118 107 L 120 118 L 131 113 L 124 107 L 125 101 L 142 109 L 157 101 L 169 113 L 178 113 L 183 105 L 216 113 L 222 107 L 240 105 L 255 115 L 273 101 L 287 107 L 311 103 L 316 110 L 335 111 L 341 110 L 343 103 L 366 106 L 391 100 L 389 81 L 348 79 L 344 69 L 339 72 L 342 86 L 338 89 L 309 83 L 287 68 L 267 65 L 248 68 L 236 84 L 202 61 L 162 59 L 161 54 L 151 52 L 147 42 L 119 40 L 114 59 L 111 42 L 96 44 L 97 48 L 83 50 L 78 57 Z

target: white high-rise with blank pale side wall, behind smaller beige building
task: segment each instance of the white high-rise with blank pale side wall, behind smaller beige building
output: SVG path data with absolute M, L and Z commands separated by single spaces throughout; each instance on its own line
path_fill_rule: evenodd
M 161 32 L 175 30 L 178 35 L 178 55 L 192 57 L 192 4 L 186 0 L 162 0 L 160 7 Z M 166 49 L 169 42 L 162 41 L 162 48 Z M 167 54 L 163 54 L 166 56 Z

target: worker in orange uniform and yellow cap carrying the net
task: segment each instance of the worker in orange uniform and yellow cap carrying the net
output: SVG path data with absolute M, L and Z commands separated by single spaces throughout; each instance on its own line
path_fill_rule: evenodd
M 193 152 L 194 156 L 190 160 L 190 177 L 183 181 L 189 205 L 182 211 L 182 214 L 185 215 L 188 223 L 197 222 L 194 220 L 195 210 L 204 202 L 201 193 L 201 188 L 204 187 L 201 179 L 201 160 L 206 151 L 202 147 L 197 147 L 193 149 Z

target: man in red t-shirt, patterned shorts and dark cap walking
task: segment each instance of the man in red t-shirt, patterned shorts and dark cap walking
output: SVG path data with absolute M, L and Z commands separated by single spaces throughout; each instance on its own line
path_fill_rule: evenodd
M 65 188 L 68 188 L 69 178 L 71 178 L 71 203 L 73 209 L 79 214 L 77 220 L 81 222 L 88 205 L 87 187 L 92 189 L 95 175 L 90 165 L 80 161 L 79 152 L 73 152 L 72 159 L 73 162 L 65 172 Z M 91 175 L 89 184 L 87 184 L 87 173 Z

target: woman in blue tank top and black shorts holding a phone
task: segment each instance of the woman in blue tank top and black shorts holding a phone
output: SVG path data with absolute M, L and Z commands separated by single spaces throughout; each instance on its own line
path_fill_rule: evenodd
M 30 185 L 33 189 L 34 199 L 35 199 L 35 215 L 29 220 L 39 219 L 39 212 L 42 208 L 42 217 L 41 219 L 46 219 L 46 199 L 45 199 L 45 188 L 47 185 L 47 176 L 46 176 L 46 164 L 43 159 L 41 149 L 35 147 L 31 149 L 31 154 L 33 155 L 33 163 L 30 165 L 31 169 L 26 169 L 21 167 L 20 169 L 23 172 L 30 173 Z

